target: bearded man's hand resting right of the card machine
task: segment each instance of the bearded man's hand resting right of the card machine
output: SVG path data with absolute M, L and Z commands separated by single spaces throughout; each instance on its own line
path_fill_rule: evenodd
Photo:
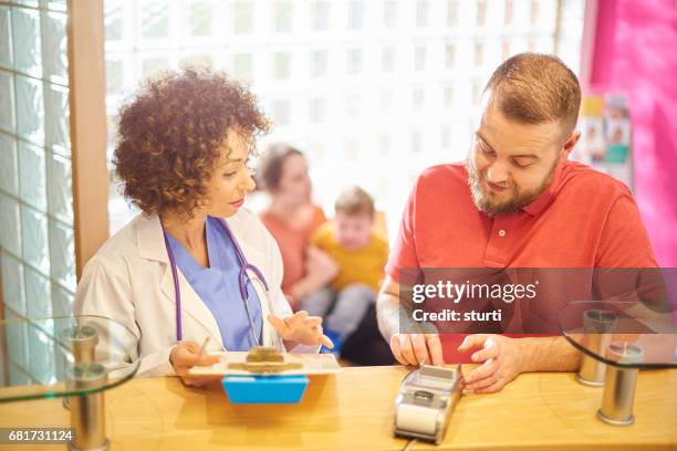
M 466 390 L 492 394 L 501 390 L 524 369 L 524 356 L 519 339 L 502 335 L 468 335 L 458 350 L 480 348 L 470 357 L 482 365 L 465 376 Z

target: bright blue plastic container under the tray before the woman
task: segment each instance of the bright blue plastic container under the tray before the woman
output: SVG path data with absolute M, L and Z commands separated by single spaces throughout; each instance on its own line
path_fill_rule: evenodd
M 299 403 L 305 376 L 226 376 L 221 385 L 231 403 Z

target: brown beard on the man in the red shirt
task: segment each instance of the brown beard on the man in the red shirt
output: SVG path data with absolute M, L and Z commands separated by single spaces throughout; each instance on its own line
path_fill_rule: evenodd
M 491 196 L 485 191 L 482 185 L 487 182 L 486 171 L 478 171 L 470 158 L 466 160 L 466 170 L 468 171 L 468 186 L 470 187 L 470 193 L 472 201 L 480 211 L 483 211 L 490 216 L 510 214 L 520 211 L 535 200 L 543 191 L 548 189 L 552 181 L 553 174 L 558 167 L 558 161 L 552 165 L 548 176 L 543 182 L 535 189 L 529 191 L 521 191 L 515 185 L 512 186 L 514 190 L 513 196 L 502 202 L 497 202 L 491 199 Z

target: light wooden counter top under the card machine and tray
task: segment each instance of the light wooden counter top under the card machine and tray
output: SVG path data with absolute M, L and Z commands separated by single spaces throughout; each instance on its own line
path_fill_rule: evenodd
M 393 402 L 406 373 L 343 368 L 312 378 L 298 406 L 232 406 L 219 385 L 135 379 L 106 392 L 107 434 L 112 450 L 400 450 L 406 441 L 392 437 Z M 595 418 L 601 396 L 573 374 L 521 375 L 499 394 L 464 396 L 445 443 L 414 449 L 677 450 L 677 370 L 639 373 L 631 427 Z M 61 399 L 0 405 L 3 428 L 67 424 Z

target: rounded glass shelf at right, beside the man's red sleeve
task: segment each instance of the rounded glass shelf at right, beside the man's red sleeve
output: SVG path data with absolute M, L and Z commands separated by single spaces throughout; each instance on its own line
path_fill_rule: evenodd
M 640 302 L 581 301 L 559 314 L 562 334 L 582 353 L 621 368 L 677 368 L 677 315 Z

